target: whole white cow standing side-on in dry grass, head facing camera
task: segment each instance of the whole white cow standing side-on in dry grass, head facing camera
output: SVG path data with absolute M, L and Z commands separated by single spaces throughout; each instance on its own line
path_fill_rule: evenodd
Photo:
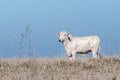
M 75 54 L 87 54 L 93 53 L 93 58 L 99 58 L 100 39 L 98 36 L 87 37 L 75 37 L 68 34 L 66 31 L 62 31 L 57 34 L 59 36 L 59 42 L 64 44 L 64 48 L 69 56 L 70 60 L 75 59 Z

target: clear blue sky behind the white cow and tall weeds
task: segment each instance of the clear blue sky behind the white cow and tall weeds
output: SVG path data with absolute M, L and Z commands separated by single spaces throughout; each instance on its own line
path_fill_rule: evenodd
M 63 56 L 57 32 L 98 35 L 103 55 L 120 53 L 120 0 L 0 0 L 0 56 L 17 57 L 16 43 L 30 24 L 37 57 Z

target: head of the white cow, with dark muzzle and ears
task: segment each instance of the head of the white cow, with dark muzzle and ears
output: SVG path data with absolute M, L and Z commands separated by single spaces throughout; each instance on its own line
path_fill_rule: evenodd
M 59 36 L 59 42 L 65 42 L 67 40 L 71 41 L 70 34 L 68 34 L 66 31 L 62 31 L 57 34 Z

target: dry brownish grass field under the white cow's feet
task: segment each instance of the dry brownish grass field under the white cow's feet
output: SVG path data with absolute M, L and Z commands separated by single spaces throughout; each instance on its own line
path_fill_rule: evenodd
M 120 80 L 120 58 L 0 59 L 0 80 Z

